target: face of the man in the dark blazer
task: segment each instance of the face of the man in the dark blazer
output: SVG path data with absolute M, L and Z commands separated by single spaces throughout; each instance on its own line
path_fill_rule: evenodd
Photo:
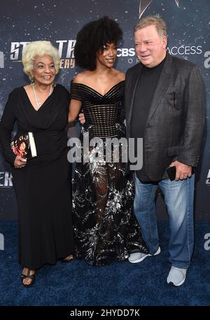
M 161 37 L 155 25 L 149 25 L 134 33 L 136 54 L 148 68 L 158 66 L 166 56 L 167 37 Z

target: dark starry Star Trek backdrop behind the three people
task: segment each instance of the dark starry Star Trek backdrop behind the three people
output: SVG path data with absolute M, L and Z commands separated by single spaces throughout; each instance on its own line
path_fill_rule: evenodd
M 126 71 L 137 63 L 133 30 L 139 18 L 159 13 L 167 22 L 169 53 L 190 60 L 202 69 L 207 88 L 207 125 L 202 161 L 197 171 L 195 217 L 209 219 L 210 197 L 210 2 L 207 0 L 6 0 L 0 12 L 0 118 L 8 94 L 28 83 L 22 72 L 22 48 L 30 41 L 50 40 L 58 48 L 61 70 L 57 83 L 69 89 L 79 71 L 73 48 L 83 25 L 103 15 L 119 22 L 123 42 L 118 48 L 116 68 Z M 73 132 L 73 130 L 71 130 Z M 31 181 L 33 183 L 33 181 Z M 56 184 L 56 181 L 55 181 Z M 48 186 L 46 186 L 48 188 Z M 165 207 L 158 197 L 158 214 L 165 218 Z M 0 219 L 17 218 L 10 167 L 0 154 Z

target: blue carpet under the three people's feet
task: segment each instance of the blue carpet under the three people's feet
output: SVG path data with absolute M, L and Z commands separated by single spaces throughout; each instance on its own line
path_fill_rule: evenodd
M 37 272 L 33 287 L 20 282 L 17 223 L 0 221 L 4 250 L 0 250 L 1 306 L 205 306 L 210 305 L 210 250 L 204 249 L 204 235 L 210 221 L 195 223 L 195 253 L 186 282 L 180 287 L 167 284 L 167 221 L 160 221 L 158 256 L 142 263 L 127 260 L 104 267 L 91 267 L 82 260 L 45 265 Z M 210 249 L 210 247 L 209 247 Z

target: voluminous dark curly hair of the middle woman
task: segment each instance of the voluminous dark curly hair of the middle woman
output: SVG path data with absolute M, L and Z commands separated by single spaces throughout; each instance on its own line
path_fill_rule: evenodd
M 82 69 L 96 69 L 96 53 L 103 50 L 106 43 L 118 43 L 123 37 L 123 31 L 118 22 L 104 16 L 94 20 L 78 32 L 74 56 L 76 64 Z

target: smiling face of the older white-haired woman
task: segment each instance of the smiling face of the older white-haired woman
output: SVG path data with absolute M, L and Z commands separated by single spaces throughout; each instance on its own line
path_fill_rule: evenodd
M 37 56 L 34 60 L 33 69 L 31 70 L 31 76 L 36 83 L 43 85 L 50 85 L 55 79 L 55 64 L 52 57 L 49 55 L 43 55 L 43 57 Z

